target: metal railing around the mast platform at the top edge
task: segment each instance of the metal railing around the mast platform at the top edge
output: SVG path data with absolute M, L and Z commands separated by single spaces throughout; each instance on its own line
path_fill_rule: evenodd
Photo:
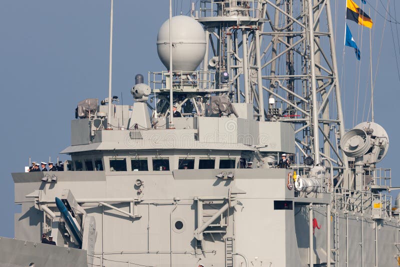
M 249 16 L 258 18 L 261 0 L 201 0 L 200 16 Z

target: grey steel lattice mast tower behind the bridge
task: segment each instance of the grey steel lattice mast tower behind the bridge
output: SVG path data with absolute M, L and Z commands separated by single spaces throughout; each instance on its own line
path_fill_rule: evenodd
M 294 123 L 314 164 L 348 168 L 329 0 L 201 0 L 198 21 L 209 41 L 203 70 L 229 73 L 233 102 L 253 104 L 260 121 Z

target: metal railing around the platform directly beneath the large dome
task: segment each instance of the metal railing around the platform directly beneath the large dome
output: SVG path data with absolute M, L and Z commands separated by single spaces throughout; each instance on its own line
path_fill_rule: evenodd
M 207 77 L 203 79 L 204 74 Z M 169 90 L 169 71 L 148 72 L 148 83 L 152 90 Z M 168 86 L 168 87 L 167 87 Z M 174 90 L 212 90 L 215 87 L 215 72 L 213 71 L 173 71 L 172 89 Z

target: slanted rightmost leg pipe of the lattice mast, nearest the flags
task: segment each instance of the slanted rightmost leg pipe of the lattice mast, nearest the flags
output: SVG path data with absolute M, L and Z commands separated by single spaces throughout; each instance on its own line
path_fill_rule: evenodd
M 326 19 L 328 23 L 328 32 L 329 34 L 329 44 L 330 44 L 330 54 L 332 57 L 332 67 L 334 71 L 334 75 L 336 77 L 335 79 L 335 93 L 336 93 L 336 108 L 337 108 L 337 118 L 340 120 L 339 123 L 339 133 L 340 137 L 342 137 L 345 133 L 344 131 L 344 118 L 343 118 L 343 112 L 341 109 L 341 96 L 340 96 L 340 86 L 338 82 L 338 75 L 337 75 L 337 63 L 336 63 L 336 48 L 335 48 L 335 43 L 334 43 L 334 37 L 333 37 L 333 26 L 332 26 L 332 14 L 330 11 L 330 0 L 326 1 Z M 347 161 L 347 156 L 342 153 L 342 159 L 343 159 L 343 166 L 347 169 L 348 168 L 348 161 Z

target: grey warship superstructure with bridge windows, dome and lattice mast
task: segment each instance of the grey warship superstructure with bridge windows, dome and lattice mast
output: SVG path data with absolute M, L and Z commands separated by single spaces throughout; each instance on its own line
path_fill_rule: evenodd
M 79 102 L 63 171 L 12 173 L 0 266 L 400 262 L 388 135 L 344 128 L 330 1 L 198 4 L 161 25 L 167 70 L 132 103 Z

